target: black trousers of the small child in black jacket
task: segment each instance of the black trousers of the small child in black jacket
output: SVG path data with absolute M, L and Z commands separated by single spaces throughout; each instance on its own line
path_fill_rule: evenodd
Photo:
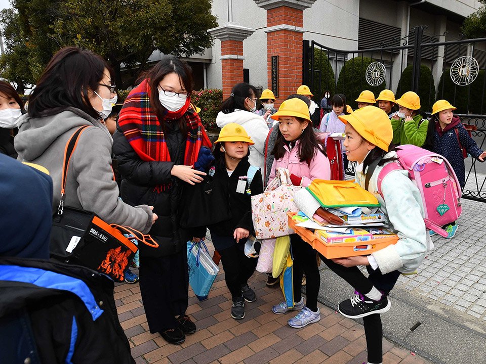
M 211 234 L 211 239 L 221 255 L 224 279 L 232 298 L 241 297 L 241 286 L 248 284 L 248 280 L 255 272 L 258 259 L 247 257 L 244 250 L 245 244 L 241 241 L 236 244 L 233 237 Z M 218 246 L 226 246 L 226 248 L 220 250 Z

